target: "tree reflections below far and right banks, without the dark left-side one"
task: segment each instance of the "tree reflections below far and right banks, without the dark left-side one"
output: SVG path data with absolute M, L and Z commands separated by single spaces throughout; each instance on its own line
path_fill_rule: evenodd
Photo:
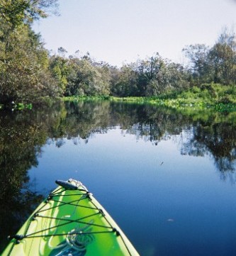
M 211 155 L 220 177 L 230 177 L 236 168 L 236 114 L 191 112 L 179 113 L 150 105 L 98 102 L 68 103 L 66 138 L 77 143 L 86 141 L 93 133 L 119 126 L 126 133 L 134 134 L 137 140 L 150 141 L 157 145 L 161 140 L 181 135 L 182 155 L 201 157 Z M 68 130 L 70 127 L 70 132 Z M 59 145 L 62 145 L 60 141 Z

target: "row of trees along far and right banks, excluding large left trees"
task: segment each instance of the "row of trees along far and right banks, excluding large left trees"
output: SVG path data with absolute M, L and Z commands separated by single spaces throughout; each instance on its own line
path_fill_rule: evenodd
M 213 48 L 199 44 L 186 47 L 184 52 L 190 59 L 187 68 L 162 58 L 158 53 L 120 68 L 96 63 L 88 54 L 67 59 L 69 71 L 66 79 L 62 80 L 62 67 L 53 72 L 59 81 L 67 82 L 66 96 L 146 96 L 162 102 L 167 96 L 181 93 L 181 99 L 173 99 L 172 104 L 227 104 L 234 99 L 230 95 L 222 96 L 220 88 L 235 84 L 235 45 L 234 33 L 225 30 Z M 61 54 L 64 51 L 62 48 Z M 221 85 L 213 87 L 212 83 Z

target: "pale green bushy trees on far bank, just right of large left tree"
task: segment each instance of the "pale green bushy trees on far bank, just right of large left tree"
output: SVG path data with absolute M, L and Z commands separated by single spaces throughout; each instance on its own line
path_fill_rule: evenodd
M 66 50 L 59 49 L 60 55 Z M 103 96 L 110 94 L 110 67 L 94 62 L 89 53 L 83 57 L 54 55 L 50 58 L 50 70 L 64 96 Z

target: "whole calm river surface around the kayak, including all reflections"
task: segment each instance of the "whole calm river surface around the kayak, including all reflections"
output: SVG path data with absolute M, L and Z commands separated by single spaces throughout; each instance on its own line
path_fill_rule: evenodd
M 140 255 L 236 255 L 236 113 L 80 102 L 0 112 L 0 250 L 79 179 Z

